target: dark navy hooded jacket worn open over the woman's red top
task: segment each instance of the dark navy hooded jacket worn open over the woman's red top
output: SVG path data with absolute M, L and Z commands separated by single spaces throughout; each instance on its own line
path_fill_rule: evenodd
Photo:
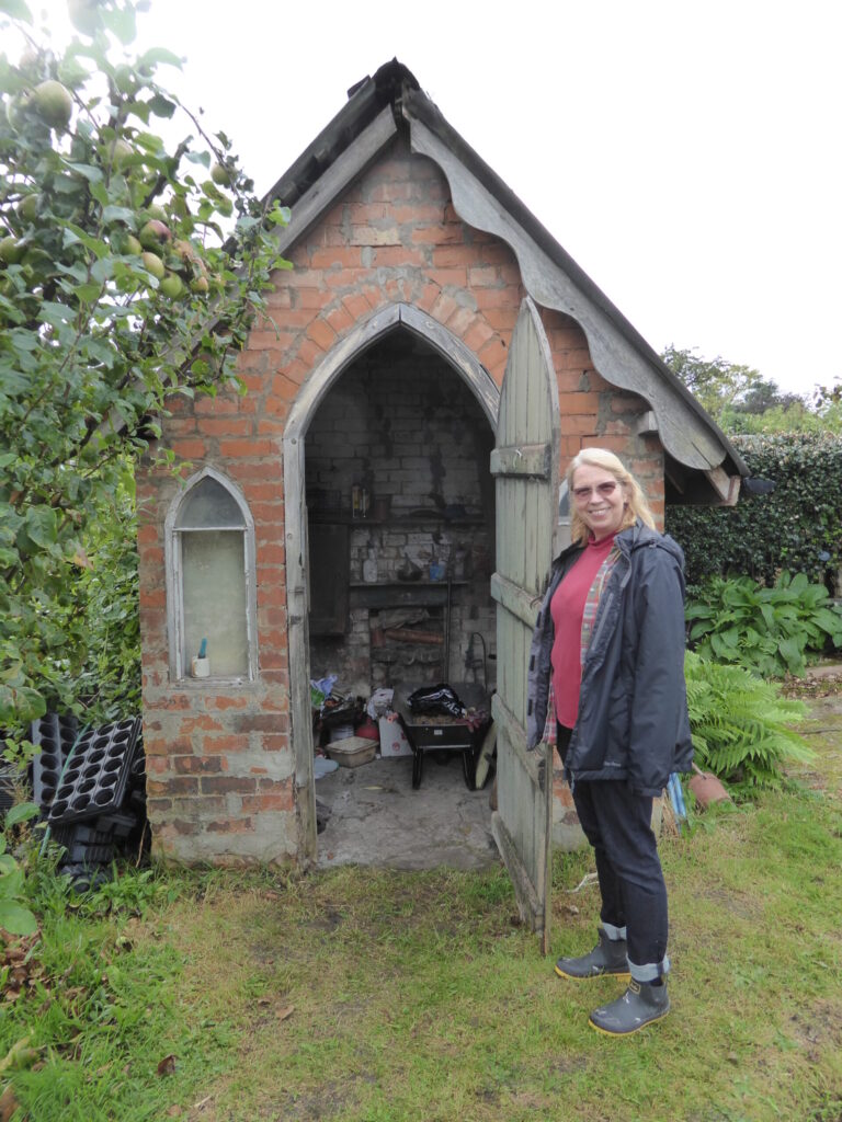
M 684 681 L 684 554 L 638 522 L 614 539 L 620 558 L 605 582 L 582 668 L 579 711 L 565 760 L 568 781 L 625 779 L 660 795 L 670 772 L 690 770 L 693 743 Z M 553 626 L 550 600 L 582 553 L 552 563 L 532 637 L 528 678 L 530 747 L 544 729 Z

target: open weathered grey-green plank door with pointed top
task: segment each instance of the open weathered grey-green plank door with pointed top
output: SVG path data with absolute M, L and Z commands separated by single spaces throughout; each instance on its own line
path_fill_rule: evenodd
M 527 752 L 527 665 L 558 521 L 558 386 L 538 310 L 521 304 L 491 470 L 496 479 L 497 810 L 492 830 L 521 919 L 549 951 L 551 749 Z

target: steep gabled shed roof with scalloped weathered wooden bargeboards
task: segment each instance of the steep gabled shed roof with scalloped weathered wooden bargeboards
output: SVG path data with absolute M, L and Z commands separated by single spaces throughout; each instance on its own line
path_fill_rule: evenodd
M 280 232 L 282 251 L 399 132 L 409 135 L 413 151 L 440 167 L 459 218 L 510 246 L 533 300 L 579 323 L 603 378 L 649 403 L 644 427 L 657 432 L 663 444 L 676 499 L 734 503 L 740 477 L 749 470 L 724 433 L 397 59 L 348 91 L 344 108 L 269 191 L 271 197 L 292 208 L 290 226 Z

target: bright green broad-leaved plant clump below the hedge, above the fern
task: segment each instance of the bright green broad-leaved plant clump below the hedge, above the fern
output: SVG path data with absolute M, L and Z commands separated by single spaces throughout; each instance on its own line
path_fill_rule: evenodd
M 687 619 L 699 657 L 767 678 L 800 677 L 811 654 L 842 647 L 842 609 L 804 573 L 782 572 L 771 588 L 750 577 L 711 577 L 688 604 Z

